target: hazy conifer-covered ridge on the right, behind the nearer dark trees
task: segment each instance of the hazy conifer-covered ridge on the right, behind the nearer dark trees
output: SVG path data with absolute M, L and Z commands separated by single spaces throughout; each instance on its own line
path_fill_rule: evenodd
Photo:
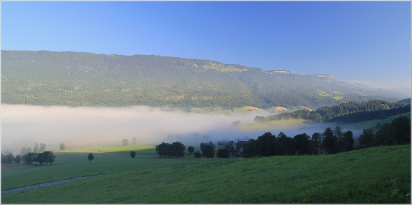
M 355 123 L 370 119 L 385 119 L 411 111 L 411 98 L 397 102 L 383 100 L 369 100 L 367 102 L 344 102 L 339 105 L 320 107 L 314 111 L 309 109 L 283 112 L 272 116 L 256 116 L 256 122 L 274 121 L 282 119 L 306 119 L 314 123 L 323 121 L 339 121 L 344 123 Z

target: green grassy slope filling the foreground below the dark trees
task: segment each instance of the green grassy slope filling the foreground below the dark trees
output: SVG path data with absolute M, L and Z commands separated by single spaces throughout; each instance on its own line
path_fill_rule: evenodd
M 123 167 L 81 181 L 5 194 L 1 196 L 1 203 L 409 204 L 411 202 L 410 145 L 380 146 L 336 155 L 249 159 L 193 157 L 177 159 L 142 155 L 136 159 L 120 160 L 115 157 L 115 153 L 108 153 L 108 155 L 111 158 L 103 160 L 102 157 L 100 165 L 104 164 L 107 169 L 113 170 L 119 166 Z M 73 169 L 75 167 L 80 169 L 83 166 L 92 167 L 97 163 L 96 160 L 66 164 Z M 58 165 L 52 165 L 47 169 L 52 167 Z M 61 172 L 67 172 L 69 167 Z M 16 169 L 31 168 L 16 167 Z M 2 176 L 2 179 L 7 177 Z

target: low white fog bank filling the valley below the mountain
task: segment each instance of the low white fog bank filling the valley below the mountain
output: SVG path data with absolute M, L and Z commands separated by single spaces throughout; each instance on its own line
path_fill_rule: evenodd
M 256 139 L 264 132 L 294 135 L 323 132 L 328 126 L 317 124 L 300 126 L 293 130 L 270 128 L 242 131 L 233 122 L 253 123 L 255 116 L 270 115 L 267 111 L 234 114 L 200 114 L 172 111 L 159 107 L 62 107 L 34 105 L 1 105 L 1 150 L 19 153 L 22 147 L 33 149 L 35 143 L 44 143 L 47 149 L 67 148 L 84 144 L 122 145 L 122 139 L 133 137 L 137 144 L 182 142 L 198 146 L 200 142 L 223 139 Z

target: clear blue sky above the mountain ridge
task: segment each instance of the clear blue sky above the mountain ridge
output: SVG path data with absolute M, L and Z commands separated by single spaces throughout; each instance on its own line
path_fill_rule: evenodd
M 411 86 L 411 2 L 1 3 L 2 50 L 154 54 Z

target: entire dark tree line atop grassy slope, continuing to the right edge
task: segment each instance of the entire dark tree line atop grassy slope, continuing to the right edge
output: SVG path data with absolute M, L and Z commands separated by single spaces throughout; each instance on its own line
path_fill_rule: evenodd
M 341 127 L 326 128 L 323 133 L 315 132 L 311 137 L 306 133 L 287 137 L 284 132 L 274 136 L 270 132 L 249 139 L 242 144 L 242 156 L 272 156 L 272 155 L 309 155 L 333 154 L 353 149 L 364 149 L 371 146 L 393 144 L 410 144 L 411 119 L 401 116 L 391 123 L 386 123 L 374 133 L 373 129 L 364 129 L 358 143 L 355 144 L 353 132 L 342 132 Z

